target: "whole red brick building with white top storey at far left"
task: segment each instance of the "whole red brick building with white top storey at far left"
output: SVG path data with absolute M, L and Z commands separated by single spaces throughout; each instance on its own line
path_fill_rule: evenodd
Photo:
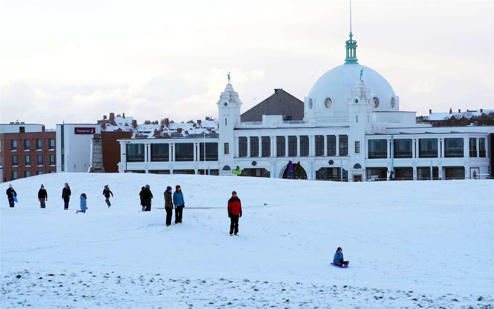
M 1 180 L 55 173 L 55 135 L 42 124 L 0 124 Z

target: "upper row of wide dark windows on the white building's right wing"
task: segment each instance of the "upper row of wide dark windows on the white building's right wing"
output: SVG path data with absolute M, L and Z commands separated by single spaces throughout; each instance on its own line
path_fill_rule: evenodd
M 388 155 L 387 139 L 369 140 L 369 158 L 378 159 L 386 158 Z M 394 158 L 411 158 L 413 157 L 412 139 L 395 139 L 393 141 L 393 157 Z M 463 138 L 445 138 L 444 139 L 444 157 L 463 157 Z M 470 157 L 477 156 L 477 138 L 473 137 L 469 140 Z M 418 139 L 418 157 L 438 157 L 442 149 L 438 149 L 437 138 L 419 138 Z M 486 157 L 485 139 L 479 139 L 479 156 Z

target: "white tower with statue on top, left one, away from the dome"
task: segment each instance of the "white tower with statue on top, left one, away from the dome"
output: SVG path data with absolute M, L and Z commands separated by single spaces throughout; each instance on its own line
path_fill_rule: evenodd
M 225 91 L 221 92 L 218 103 L 219 122 L 219 144 L 218 160 L 220 162 L 220 175 L 233 175 L 235 169 L 235 154 L 238 152 L 238 145 L 235 145 L 235 135 L 233 129 L 235 124 L 240 122 L 240 107 L 242 102 L 239 94 L 233 91 L 232 84 L 225 86 Z

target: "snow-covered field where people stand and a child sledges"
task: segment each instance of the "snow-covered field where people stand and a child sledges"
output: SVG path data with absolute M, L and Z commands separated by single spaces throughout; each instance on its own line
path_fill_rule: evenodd
M 493 181 L 71 173 L 11 183 L 19 203 L 0 199 L 0 308 L 494 308 Z M 140 211 L 146 184 L 151 212 Z M 167 228 L 163 192 L 176 184 L 183 224 Z M 239 236 L 228 234 L 232 190 Z M 76 214 L 81 193 L 86 214 Z M 338 246 L 348 269 L 329 265 Z

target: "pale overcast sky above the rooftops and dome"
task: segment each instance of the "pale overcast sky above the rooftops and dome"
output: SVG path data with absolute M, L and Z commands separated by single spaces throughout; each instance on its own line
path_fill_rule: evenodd
M 349 32 L 348 0 L 0 5 L 0 121 L 47 128 L 110 112 L 217 117 L 227 72 L 243 111 L 274 88 L 303 100 L 343 64 Z M 491 0 L 354 0 L 359 63 L 389 81 L 402 111 L 493 109 L 493 11 Z

